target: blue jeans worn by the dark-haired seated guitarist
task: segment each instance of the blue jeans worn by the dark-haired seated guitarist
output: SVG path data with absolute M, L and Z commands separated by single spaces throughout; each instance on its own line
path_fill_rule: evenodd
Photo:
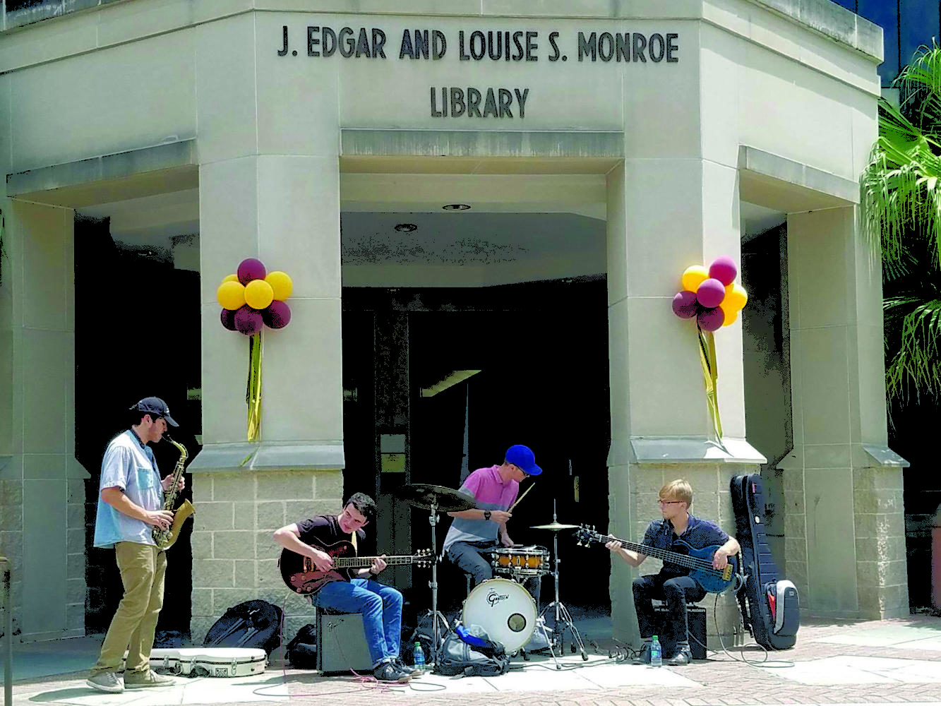
M 399 656 L 402 639 L 402 594 L 369 579 L 332 581 L 311 597 L 311 603 L 339 613 L 361 613 L 362 628 L 373 666 Z

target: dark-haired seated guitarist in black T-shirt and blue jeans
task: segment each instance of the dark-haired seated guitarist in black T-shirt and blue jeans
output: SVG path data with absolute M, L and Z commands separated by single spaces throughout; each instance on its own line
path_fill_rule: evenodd
M 288 524 L 275 532 L 275 541 L 296 554 L 310 556 L 317 570 L 329 571 L 333 568 L 333 557 L 311 544 L 329 547 L 339 541 L 350 541 L 354 532 L 359 544 L 366 538 L 362 528 L 374 517 L 375 501 L 358 492 L 346 501 L 339 515 L 321 515 Z M 418 672 L 399 658 L 402 594 L 373 580 L 385 568 L 383 558 L 376 557 L 369 569 L 347 570 L 348 582 L 327 582 L 311 596 L 311 603 L 342 613 L 361 613 L 375 678 L 379 682 L 407 682 Z

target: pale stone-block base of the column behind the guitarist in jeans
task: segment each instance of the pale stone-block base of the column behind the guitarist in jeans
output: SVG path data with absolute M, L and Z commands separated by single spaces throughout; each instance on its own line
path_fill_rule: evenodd
M 193 504 L 194 644 L 227 609 L 253 599 L 284 609 L 285 641 L 312 622 L 310 602 L 281 581 L 273 534 L 302 518 L 339 512 L 342 472 L 197 472 Z

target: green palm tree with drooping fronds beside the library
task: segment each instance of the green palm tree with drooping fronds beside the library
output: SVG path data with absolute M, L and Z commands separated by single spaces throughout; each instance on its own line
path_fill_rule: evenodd
M 941 400 L 941 47 L 922 47 L 879 100 L 879 137 L 860 179 L 860 217 L 885 287 L 889 404 Z M 927 401 L 927 400 L 925 400 Z

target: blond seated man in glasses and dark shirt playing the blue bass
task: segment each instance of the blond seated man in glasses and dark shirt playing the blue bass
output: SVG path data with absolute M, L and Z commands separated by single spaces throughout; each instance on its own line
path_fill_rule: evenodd
M 690 505 L 693 505 L 693 489 L 685 480 L 678 479 L 663 486 L 660 489 L 663 519 L 650 522 L 642 543 L 664 550 L 670 550 L 677 539 L 682 539 L 694 549 L 722 545 L 712 556 L 712 567 L 716 570 L 725 569 L 728 557 L 739 553 L 739 542 L 730 538 L 715 522 L 691 515 Z M 632 567 L 640 566 L 646 559 L 646 554 L 624 549 L 617 541 L 608 542 L 605 546 Z M 656 624 L 653 599 L 666 603 L 670 626 L 664 626 L 664 630 L 672 629 L 676 636 L 676 652 L 669 657 L 663 655 L 666 664 L 686 665 L 693 658 L 687 633 L 686 603 L 702 601 L 706 591 L 687 576 L 687 572 L 676 564 L 664 563 L 660 573 L 634 579 L 634 607 L 637 610 L 637 625 L 644 640 L 640 661 L 644 664 L 650 664 L 650 643 Z

